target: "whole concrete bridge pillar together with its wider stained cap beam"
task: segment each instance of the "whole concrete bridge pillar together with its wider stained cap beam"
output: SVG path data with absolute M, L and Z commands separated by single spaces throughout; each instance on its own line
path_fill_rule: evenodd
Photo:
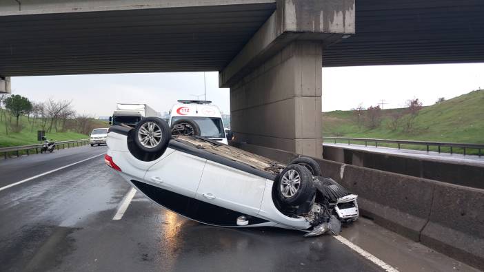
M 230 87 L 236 142 L 321 157 L 323 50 L 349 34 L 354 1 L 279 0 L 219 73 L 221 87 Z

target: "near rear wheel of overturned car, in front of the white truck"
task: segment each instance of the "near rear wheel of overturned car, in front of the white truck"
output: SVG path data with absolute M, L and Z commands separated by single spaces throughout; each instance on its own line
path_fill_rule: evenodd
M 158 117 L 143 118 L 128 134 L 128 149 L 139 160 L 156 160 L 165 152 L 170 138 L 168 123 Z

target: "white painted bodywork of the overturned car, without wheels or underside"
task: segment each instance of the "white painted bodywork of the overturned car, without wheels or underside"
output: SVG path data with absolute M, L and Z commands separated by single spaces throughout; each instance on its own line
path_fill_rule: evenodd
M 272 179 L 221 165 L 170 147 L 161 157 L 145 162 L 130 153 L 127 143 L 127 136 L 109 133 L 107 154 L 112 157 L 113 163 L 121 168 L 119 173 L 121 177 L 133 187 L 136 185 L 132 180 L 139 180 L 153 187 L 235 211 L 241 216 L 254 216 L 268 221 L 237 227 L 272 226 L 301 231 L 309 231 L 312 227 L 307 218 L 285 216 L 276 208 L 272 199 L 274 185 Z M 143 193 L 143 191 L 140 192 Z M 356 203 L 356 196 L 340 198 L 340 202 L 347 201 Z M 352 216 L 350 213 L 353 213 L 354 209 L 352 211 L 336 209 L 336 211 L 343 219 L 343 216 Z

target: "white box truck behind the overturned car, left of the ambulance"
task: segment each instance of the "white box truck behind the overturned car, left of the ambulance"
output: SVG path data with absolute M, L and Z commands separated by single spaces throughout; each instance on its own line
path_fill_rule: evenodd
M 157 117 L 158 112 L 146 104 L 118 103 L 109 118 L 110 125 L 125 124 L 134 127 L 145 117 Z

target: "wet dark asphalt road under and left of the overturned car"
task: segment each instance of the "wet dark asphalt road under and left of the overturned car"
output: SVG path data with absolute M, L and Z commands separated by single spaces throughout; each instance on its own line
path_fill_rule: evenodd
M 0 161 L 0 187 L 104 152 Z M 112 220 L 129 189 L 99 156 L 0 191 L 0 271 L 382 271 L 332 236 L 210 227 L 140 193 Z

